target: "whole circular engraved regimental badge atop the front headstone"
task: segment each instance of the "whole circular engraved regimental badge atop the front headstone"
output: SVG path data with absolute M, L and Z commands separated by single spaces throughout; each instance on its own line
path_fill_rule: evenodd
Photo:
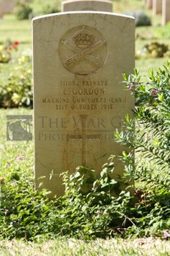
M 71 73 L 88 75 L 103 67 L 108 45 L 102 34 L 91 26 L 76 26 L 59 42 L 59 57 Z

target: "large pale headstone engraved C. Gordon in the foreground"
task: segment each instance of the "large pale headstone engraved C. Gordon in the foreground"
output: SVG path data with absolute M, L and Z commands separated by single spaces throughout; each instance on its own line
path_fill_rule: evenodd
M 122 86 L 133 73 L 135 19 L 62 12 L 33 19 L 35 187 L 64 192 L 60 174 L 78 165 L 101 171 L 134 100 Z M 123 168 L 115 159 L 115 176 Z M 42 177 L 44 177 L 42 179 Z

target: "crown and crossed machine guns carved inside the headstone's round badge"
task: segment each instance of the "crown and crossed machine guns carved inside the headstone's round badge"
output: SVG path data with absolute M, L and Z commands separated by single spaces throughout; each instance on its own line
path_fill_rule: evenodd
M 61 40 L 62 45 L 65 45 L 68 50 L 72 51 L 72 54 L 64 60 L 66 68 L 80 64 L 80 61 L 85 59 L 90 60 L 90 63 L 94 64 L 94 69 L 99 69 L 103 66 L 104 60 L 100 59 L 99 55 L 96 56 L 92 53 L 105 45 L 105 40 L 94 42 L 94 36 L 85 30 L 85 26 L 77 31 L 72 38 L 75 44 L 69 40 Z

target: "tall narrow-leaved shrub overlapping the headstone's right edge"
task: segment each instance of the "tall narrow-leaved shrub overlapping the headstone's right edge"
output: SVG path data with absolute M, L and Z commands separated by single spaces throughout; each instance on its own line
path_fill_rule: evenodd
M 126 88 L 136 97 L 134 119 L 126 117 L 126 131 L 116 133 L 117 141 L 136 152 L 134 178 L 138 202 L 134 207 L 136 235 L 159 235 L 169 229 L 170 220 L 170 63 L 141 82 L 140 73 L 124 74 Z M 136 126 L 135 136 L 131 130 Z M 131 170 L 126 169 L 131 175 Z

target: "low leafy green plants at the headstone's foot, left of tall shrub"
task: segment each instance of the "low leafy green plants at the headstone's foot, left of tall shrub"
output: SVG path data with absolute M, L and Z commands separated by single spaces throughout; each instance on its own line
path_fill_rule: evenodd
M 89 192 L 84 192 L 82 186 L 84 173 L 92 172 L 90 169 L 79 167 L 74 174 L 63 173 L 66 192 L 51 201 L 47 191 L 34 192 L 33 175 L 24 171 L 22 164 L 13 161 L 9 172 L 8 163 L 7 170 L 3 170 L 5 182 L 0 183 L 0 237 L 36 239 L 64 235 L 90 239 L 113 236 L 123 230 L 131 224 L 130 194 L 121 192 L 119 197 L 113 197 L 117 181 L 109 178 L 112 159 L 105 164 L 99 179 L 91 183 Z

